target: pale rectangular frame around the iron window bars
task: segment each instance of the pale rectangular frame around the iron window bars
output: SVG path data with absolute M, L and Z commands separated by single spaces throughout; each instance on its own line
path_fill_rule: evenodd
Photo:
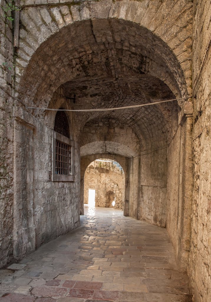
M 56 174 L 56 140 L 61 143 L 65 143 L 71 147 L 71 174 Z M 53 131 L 53 143 L 52 143 L 52 182 L 74 182 L 74 141 L 68 137 L 63 136 L 56 131 Z

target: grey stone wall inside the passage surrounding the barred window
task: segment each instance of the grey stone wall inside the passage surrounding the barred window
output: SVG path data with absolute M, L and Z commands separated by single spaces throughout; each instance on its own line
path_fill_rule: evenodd
M 59 91 L 50 106 L 60 108 L 63 102 Z M 21 108 L 13 112 L 15 259 L 80 225 L 79 147 L 74 140 L 74 117 L 70 113 L 67 117 L 74 141 L 74 181 L 51 181 L 55 115 L 56 111 L 48 111 L 35 117 Z

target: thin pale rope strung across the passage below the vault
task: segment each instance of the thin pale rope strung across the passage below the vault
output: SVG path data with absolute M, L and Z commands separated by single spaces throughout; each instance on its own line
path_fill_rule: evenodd
M 186 98 L 174 98 L 171 100 L 165 100 L 165 101 L 158 101 L 158 102 L 153 102 L 153 103 L 148 103 L 148 104 L 140 104 L 140 105 L 132 105 L 132 106 L 125 106 L 125 107 L 116 107 L 116 108 L 98 108 L 98 109 L 53 109 L 53 108 L 39 108 L 39 107 L 29 107 L 24 104 L 23 101 L 21 101 L 19 98 L 16 98 L 15 96 L 11 95 L 10 92 L 8 92 L 2 85 L 0 85 L 2 90 L 8 93 L 12 98 L 18 100 L 21 102 L 21 104 L 24 105 L 25 108 L 27 109 L 39 109 L 39 110 L 51 110 L 51 111 L 73 111 L 73 112 L 93 112 L 93 111 L 113 111 L 113 110 L 120 110 L 120 109 L 129 109 L 129 108 L 139 108 L 139 107 L 144 107 L 144 106 L 149 106 L 149 105 L 155 105 L 155 104 L 161 104 L 161 103 L 166 103 L 166 102 L 171 102 L 171 101 L 178 101 L 178 105 L 181 106 L 184 104 L 187 99 L 191 98 L 192 95 L 189 95 Z

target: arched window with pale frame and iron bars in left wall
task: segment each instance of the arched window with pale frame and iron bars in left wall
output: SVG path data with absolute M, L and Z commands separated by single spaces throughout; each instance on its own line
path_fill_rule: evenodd
M 53 131 L 52 181 L 74 181 L 73 154 L 74 142 L 70 139 L 68 118 L 64 111 L 57 111 Z

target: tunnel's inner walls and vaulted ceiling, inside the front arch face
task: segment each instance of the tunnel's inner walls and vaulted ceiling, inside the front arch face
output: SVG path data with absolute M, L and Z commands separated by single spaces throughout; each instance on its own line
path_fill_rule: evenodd
M 17 95 L 32 107 L 114 108 L 187 93 L 184 73 L 168 44 L 124 19 L 81 20 L 62 27 L 25 63 L 21 78 L 15 78 Z M 186 271 L 192 192 L 187 106 L 172 101 L 109 112 L 66 111 L 69 137 L 62 140 L 71 154 L 68 177 L 54 169 L 55 140 L 62 135 L 56 132 L 60 127 L 54 128 L 56 111 L 20 106 L 13 114 L 14 219 L 9 221 L 11 237 L 5 233 L 13 242 L 9 250 L 5 245 L 6 263 L 78 227 L 85 169 L 97 158 L 111 158 L 125 172 L 124 215 L 167 227 L 177 264 Z

